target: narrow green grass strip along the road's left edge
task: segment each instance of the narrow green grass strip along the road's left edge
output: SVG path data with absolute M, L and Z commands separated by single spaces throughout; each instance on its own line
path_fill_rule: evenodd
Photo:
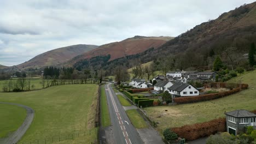
M 110 125 L 107 97 L 104 86 L 101 87 L 101 124 L 102 127 L 108 127 Z

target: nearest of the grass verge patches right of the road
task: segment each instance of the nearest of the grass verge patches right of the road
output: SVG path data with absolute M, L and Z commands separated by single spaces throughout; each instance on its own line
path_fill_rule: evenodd
M 127 113 L 127 116 L 129 117 L 130 121 L 132 122 L 132 125 L 136 129 L 143 129 L 148 128 L 147 123 L 144 121 L 144 119 L 139 115 L 137 110 L 127 110 L 125 111 Z

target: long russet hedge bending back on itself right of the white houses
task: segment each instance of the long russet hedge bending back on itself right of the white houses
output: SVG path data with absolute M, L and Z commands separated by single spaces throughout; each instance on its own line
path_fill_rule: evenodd
M 247 89 L 248 85 L 245 83 L 241 84 L 241 88 L 240 88 L 240 84 L 238 83 L 223 83 L 223 82 L 214 82 L 214 83 L 210 83 L 211 87 L 217 87 L 217 85 L 219 85 L 219 87 L 230 87 L 230 86 L 235 86 L 236 88 L 227 91 L 227 92 L 220 92 L 220 93 L 210 93 L 210 94 L 202 94 L 202 95 L 198 95 L 198 96 L 191 96 L 191 97 L 179 97 L 179 98 L 174 98 L 174 102 L 177 104 L 187 104 L 187 103 L 195 103 L 195 102 L 199 102 L 199 101 L 207 101 L 207 100 L 213 100 L 213 99 L 218 99 L 218 98 L 223 98 L 227 95 L 230 94 L 234 94 L 237 93 L 239 91 L 241 91 L 241 89 Z M 205 84 L 205 87 L 207 87 L 208 84 Z

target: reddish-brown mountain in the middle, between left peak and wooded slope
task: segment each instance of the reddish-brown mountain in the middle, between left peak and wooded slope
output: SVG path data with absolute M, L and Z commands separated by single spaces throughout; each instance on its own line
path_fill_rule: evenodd
M 97 49 L 74 57 L 67 63 L 67 65 L 73 65 L 74 63 L 83 61 L 84 59 L 107 55 L 110 55 L 108 61 L 112 61 L 120 57 L 135 55 L 152 47 L 158 48 L 159 46 L 165 44 L 166 41 L 171 39 L 173 39 L 173 37 L 143 37 L 137 35 L 123 41 L 101 45 L 97 47 Z

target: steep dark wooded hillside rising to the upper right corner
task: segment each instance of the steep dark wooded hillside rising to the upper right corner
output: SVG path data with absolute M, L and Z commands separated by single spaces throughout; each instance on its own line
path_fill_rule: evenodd
M 209 70 L 217 55 L 229 69 L 247 68 L 248 59 L 243 54 L 248 53 L 252 43 L 256 44 L 256 2 L 203 22 L 158 49 L 109 62 L 104 69 L 111 75 L 111 70 L 118 65 L 131 68 L 132 62 L 139 59 L 141 63 L 158 64 L 167 60 L 170 69 Z

